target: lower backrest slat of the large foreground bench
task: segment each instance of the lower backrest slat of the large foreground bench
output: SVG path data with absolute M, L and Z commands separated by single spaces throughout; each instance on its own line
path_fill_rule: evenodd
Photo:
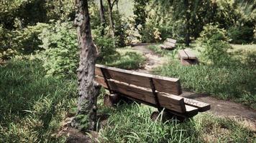
M 152 91 L 149 89 L 144 89 L 142 87 L 137 87 L 134 85 L 129 85 L 123 82 L 118 82 L 113 79 L 109 79 L 110 88 L 116 92 L 120 92 L 124 95 L 128 95 L 134 99 L 142 100 L 143 102 L 148 102 L 150 104 L 157 104 L 155 102 L 155 97 Z M 186 112 L 183 97 L 178 97 L 172 94 L 157 93 L 157 97 L 161 107 L 166 109 L 171 109 L 175 112 Z

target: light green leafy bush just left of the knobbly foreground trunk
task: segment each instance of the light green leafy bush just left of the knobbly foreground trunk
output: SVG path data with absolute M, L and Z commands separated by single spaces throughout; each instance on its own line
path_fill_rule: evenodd
M 42 40 L 41 59 L 47 76 L 72 77 L 78 66 L 78 44 L 76 31 L 70 22 L 53 24 L 40 34 Z

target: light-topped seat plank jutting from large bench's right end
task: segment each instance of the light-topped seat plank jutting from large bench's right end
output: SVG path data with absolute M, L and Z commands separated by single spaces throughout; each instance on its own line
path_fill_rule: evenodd
M 206 112 L 207 110 L 211 109 L 211 105 L 204 103 L 204 102 L 198 102 L 193 99 L 187 99 L 184 98 L 184 102 L 186 105 L 190 105 L 191 107 L 198 108 L 198 112 Z

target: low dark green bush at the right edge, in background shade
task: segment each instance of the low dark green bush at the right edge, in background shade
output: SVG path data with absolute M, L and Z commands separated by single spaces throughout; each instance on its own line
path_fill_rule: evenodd
M 249 26 L 232 27 L 228 30 L 229 39 L 234 44 L 246 44 L 253 41 L 253 28 Z

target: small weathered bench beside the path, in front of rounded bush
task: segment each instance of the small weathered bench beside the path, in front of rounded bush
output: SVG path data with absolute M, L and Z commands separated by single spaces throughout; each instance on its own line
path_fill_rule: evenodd
M 193 54 L 193 52 L 190 49 L 179 50 L 178 59 L 180 59 L 180 63 L 183 65 L 198 64 L 196 54 Z

